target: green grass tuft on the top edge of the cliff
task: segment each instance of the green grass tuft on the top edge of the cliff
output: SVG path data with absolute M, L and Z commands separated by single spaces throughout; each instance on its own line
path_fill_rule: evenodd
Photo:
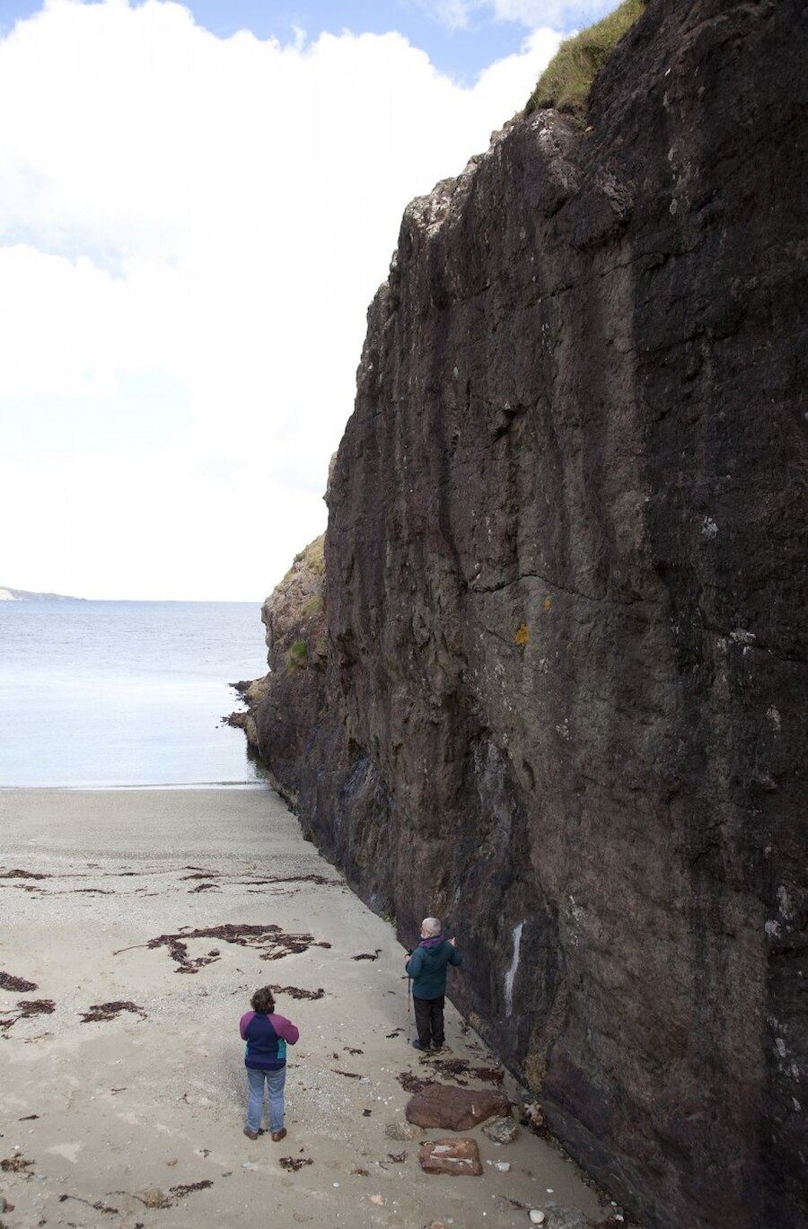
M 614 12 L 564 39 L 528 98 L 524 114 L 555 107 L 583 120 L 592 82 L 622 36 L 646 10 L 647 0 L 624 0 Z

